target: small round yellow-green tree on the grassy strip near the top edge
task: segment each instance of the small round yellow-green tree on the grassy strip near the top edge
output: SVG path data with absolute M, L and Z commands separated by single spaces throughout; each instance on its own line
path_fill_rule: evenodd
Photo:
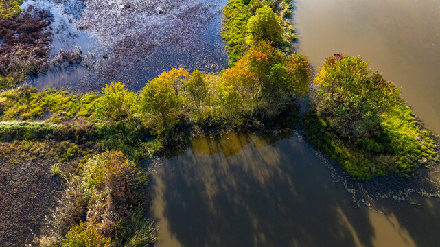
M 266 40 L 277 44 L 282 39 L 283 29 L 279 16 L 270 6 L 264 5 L 248 21 L 247 43 L 254 46 Z

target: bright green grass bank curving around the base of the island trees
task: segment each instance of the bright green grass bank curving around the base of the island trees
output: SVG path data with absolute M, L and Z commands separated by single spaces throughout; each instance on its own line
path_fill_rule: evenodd
M 382 116 L 382 132 L 354 143 L 338 137 L 312 109 L 303 115 L 303 126 L 316 148 L 359 180 L 393 174 L 408 177 L 415 169 L 439 161 L 432 134 L 417 123 L 414 113 L 403 104 Z

